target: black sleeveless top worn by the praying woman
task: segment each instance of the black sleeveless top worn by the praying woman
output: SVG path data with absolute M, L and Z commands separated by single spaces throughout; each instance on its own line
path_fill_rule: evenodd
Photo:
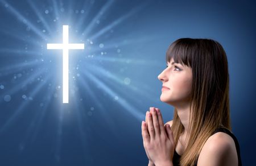
M 215 134 L 216 132 L 225 132 L 226 134 L 230 135 L 234 139 L 234 143 L 236 144 L 236 149 L 237 149 L 238 166 L 242 166 L 242 161 L 241 161 L 241 156 L 240 156 L 240 146 L 239 146 L 239 143 L 238 143 L 238 140 L 237 140 L 236 136 L 234 136 L 234 134 L 232 132 L 230 132 L 228 130 L 228 128 L 225 128 L 225 127 L 222 127 L 222 126 L 217 128 L 213 132 L 213 134 Z M 180 165 L 180 157 L 181 156 L 174 150 L 174 157 L 172 158 L 172 163 L 174 164 L 174 166 L 179 166 Z M 197 166 L 197 160 L 198 160 L 198 157 L 196 159 L 195 166 Z

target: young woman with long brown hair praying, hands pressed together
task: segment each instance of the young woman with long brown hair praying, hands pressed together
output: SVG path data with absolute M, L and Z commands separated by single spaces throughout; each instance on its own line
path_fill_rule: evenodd
M 142 121 L 148 165 L 240 166 L 240 147 L 231 132 L 226 53 L 211 39 L 178 39 L 166 53 L 160 100 L 174 106 L 163 123 L 150 107 Z

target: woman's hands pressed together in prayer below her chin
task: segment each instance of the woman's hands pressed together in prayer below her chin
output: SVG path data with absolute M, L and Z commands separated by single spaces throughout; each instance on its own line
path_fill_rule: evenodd
M 164 125 L 162 114 L 155 107 L 150 107 L 145 120 L 146 122 L 142 121 L 142 138 L 149 164 L 173 165 L 172 157 L 175 145 L 170 125 Z

